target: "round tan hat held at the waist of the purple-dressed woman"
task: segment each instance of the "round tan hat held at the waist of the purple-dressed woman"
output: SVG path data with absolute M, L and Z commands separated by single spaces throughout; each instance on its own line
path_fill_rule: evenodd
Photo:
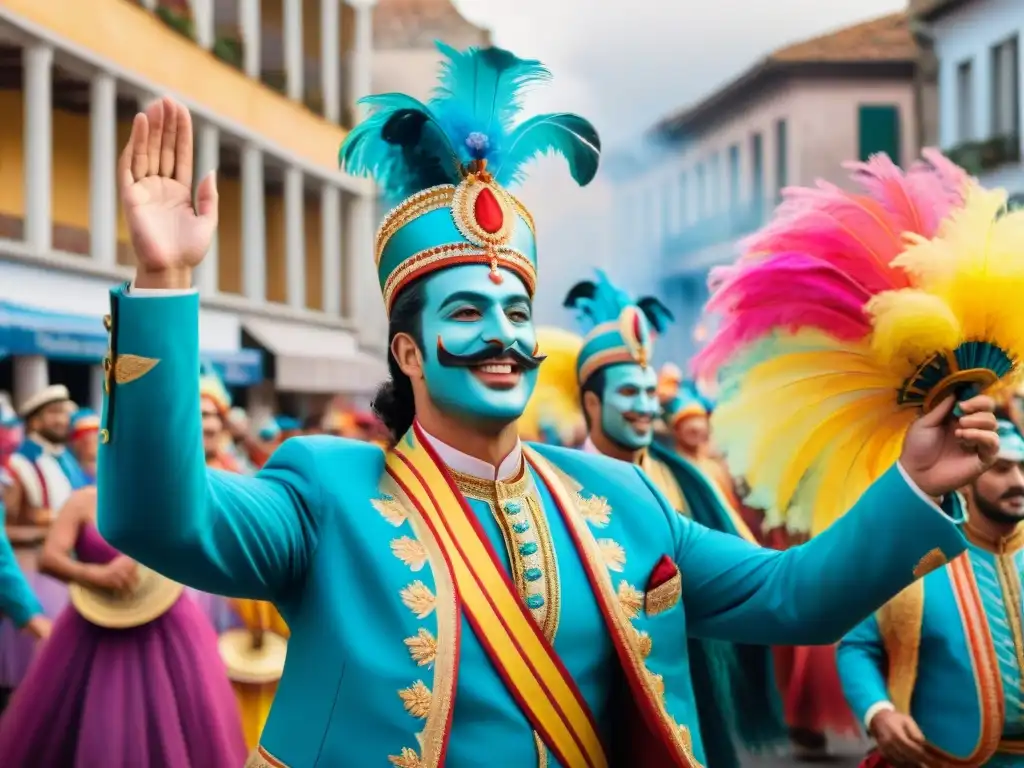
M 90 624 L 127 630 L 162 616 L 178 601 L 183 590 L 177 582 L 139 565 L 138 582 L 132 590 L 115 592 L 72 583 L 68 591 L 75 610 Z

